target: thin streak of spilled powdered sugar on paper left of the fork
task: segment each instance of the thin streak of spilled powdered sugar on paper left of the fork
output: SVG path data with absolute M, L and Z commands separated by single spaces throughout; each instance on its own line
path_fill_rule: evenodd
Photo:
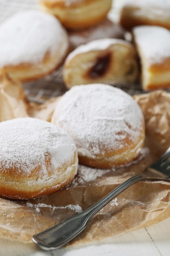
M 82 207 L 79 206 L 78 204 L 68 204 L 66 206 L 52 206 L 51 204 L 43 204 L 43 203 L 39 203 L 39 204 L 31 204 L 31 203 L 26 203 L 27 207 L 33 208 L 35 209 L 37 212 L 41 211 L 41 208 L 50 208 L 52 210 L 52 213 L 56 210 L 56 209 L 70 209 L 72 211 L 75 211 L 76 213 L 81 213 Z

